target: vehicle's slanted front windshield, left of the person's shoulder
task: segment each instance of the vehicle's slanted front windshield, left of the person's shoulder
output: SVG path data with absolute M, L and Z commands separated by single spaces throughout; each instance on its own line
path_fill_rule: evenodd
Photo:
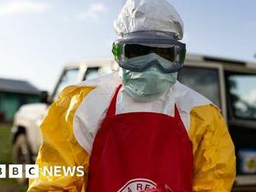
M 54 91 L 54 100 L 56 100 L 59 97 L 59 94 L 61 94 L 61 91 L 65 87 L 77 82 L 78 72 L 79 68 L 64 70 L 64 74 L 62 74 L 61 81 L 59 82 L 56 90 Z

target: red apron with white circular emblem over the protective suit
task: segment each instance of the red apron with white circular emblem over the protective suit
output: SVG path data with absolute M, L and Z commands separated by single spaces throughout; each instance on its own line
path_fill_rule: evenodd
M 176 106 L 174 118 L 154 112 L 116 115 L 120 87 L 93 143 L 86 191 L 191 192 L 192 143 Z

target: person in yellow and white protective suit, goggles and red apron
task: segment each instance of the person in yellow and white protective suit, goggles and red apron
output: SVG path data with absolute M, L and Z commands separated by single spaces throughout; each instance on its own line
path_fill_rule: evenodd
M 220 110 L 177 81 L 178 12 L 166 0 L 128 0 L 114 27 L 121 75 L 65 88 L 41 125 L 36 163 L 85 166 L 85 177 L 40 176 L 28 191 L 230 191 L 234 144 Z

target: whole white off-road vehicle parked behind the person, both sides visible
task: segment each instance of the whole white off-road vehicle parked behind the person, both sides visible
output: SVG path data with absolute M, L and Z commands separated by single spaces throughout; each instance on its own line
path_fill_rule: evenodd
M 112 73 L 118 68 L 112 59 L 68 64 L 50 101 L 67 85 Z M 256 191 L 256 64 L 190 54 L 178 80 L 221 108 L 236 146 L 234 191 Z M 48 106 L 23 105 L 16 113 L 12 128 L 16 163 L 33 163 L 42 142 L 39 125 Z

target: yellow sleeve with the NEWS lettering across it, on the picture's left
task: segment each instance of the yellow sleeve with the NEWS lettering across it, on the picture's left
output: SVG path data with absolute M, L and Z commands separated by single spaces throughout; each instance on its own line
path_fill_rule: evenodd
M 40 177 L 29 180 L 29 192 L 81 191 L 86 187 L 85 177 L 45 177 L 43 166 L 84 166 L 88 172 L 89 155 L 78 145 L 73 132 L 73 118 L 78 106 L 92 87 L 71 86 L 64 89 L 60 98 L 47 111 L 40 126 L 43 145 L 40 147 L 36 164 L 40 166 Z

